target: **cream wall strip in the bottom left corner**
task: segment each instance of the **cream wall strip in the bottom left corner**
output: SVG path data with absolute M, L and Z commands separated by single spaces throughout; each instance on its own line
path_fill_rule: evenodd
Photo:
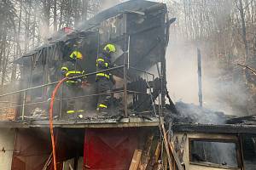
M 14 149 L 15 129 L 0 128 L 0 169 L 11 169 Z

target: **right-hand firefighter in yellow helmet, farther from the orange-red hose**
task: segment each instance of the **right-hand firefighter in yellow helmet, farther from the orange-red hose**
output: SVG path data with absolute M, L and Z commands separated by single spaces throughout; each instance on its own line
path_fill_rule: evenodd
M 116 52 L 113 44 L 108 43 L 103 49 L 102 53 L 96 59 L 96 71 L 102 71 L 112 67 L 111 54 Z M 96 74 L 97 92 L 99 95 L 96 111 L 107 113 L 110 104 L 111 94 L 113 88 L 113 75 L 109 71 L 103 71 Z

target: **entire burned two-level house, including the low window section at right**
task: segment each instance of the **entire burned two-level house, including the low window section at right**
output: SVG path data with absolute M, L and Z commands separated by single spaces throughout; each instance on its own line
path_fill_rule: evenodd
M 164 3 L 129 1 L 73 31 L 55 34 L 17 59 L 20 89 L 0 95 L 18 99 L 8 106 L 14 118 L 0 122 L 0 169 L 245 169 L 240 134 L 253 131 L 234 125 L 181 124 L 190 119 L 180 115 L 166 89 L 166 46 L 173 21 Z M 106 43 L 117 47 L 108 70 L 116 83 L 109 92 L 108 114 L 99 115 L 96 59 Z M 79 65 L 87 86 L 67 98 L 62 84 L 51 117 L 52 93 L 63 78 L 61 65 L 73 50 L 84 56 Z M 67 116 L 70 99 L 83 102 L 82 116 Z M 208 146 L 212 141 L 217 144 Z M 211 157 L 212 150 L 223 148 L 229 150 L 229 159 L 223 152 L 216 152 L 223 154 L 221 161 Z

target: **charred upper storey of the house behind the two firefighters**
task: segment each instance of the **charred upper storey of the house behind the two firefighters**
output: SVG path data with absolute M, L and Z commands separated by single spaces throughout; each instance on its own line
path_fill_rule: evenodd
M 25 106 L 16 117 L 24 120 L 37 108 L 48 110 L 45 101 L 50 99 L 56 82 L 63 78 L 61 65 L 73 50 L 79 50 L 84 55 L 79 66 L 87 73 L 86 80 L 90 84 L 80 96 L 75 97 L 84 100 L 84 110 L 87 111 L 84 117 L 94 112 L 97 98 L 96 59 L 106 43 L 117 47 L 117 53 L 112 56 L 115 66 L 110 71 L 116 80 L 113 111 L 110 112 L 125 117 L 137 115 L 138 112 L 152 115 L 152 103 L 156 100 L 162 103 L 166 91 L 165 51 L 169 26 L 166 20 L 166 6 L 162 3 L 123 3 L 97 14 L 71 33 L 50 38 L 49 43 L 25 54 L 16 61 L 21 71 L 20 89 L 27 89 L 20 96 Z M 62 110 L 68 102 L 66 91 L 62 87 L 55 101 L 54 114 L 59 119 L 65 119 Z M 23 105 L 22 102 L 20 105 Z M 114 111 L 115 108 L 119 110 Z

